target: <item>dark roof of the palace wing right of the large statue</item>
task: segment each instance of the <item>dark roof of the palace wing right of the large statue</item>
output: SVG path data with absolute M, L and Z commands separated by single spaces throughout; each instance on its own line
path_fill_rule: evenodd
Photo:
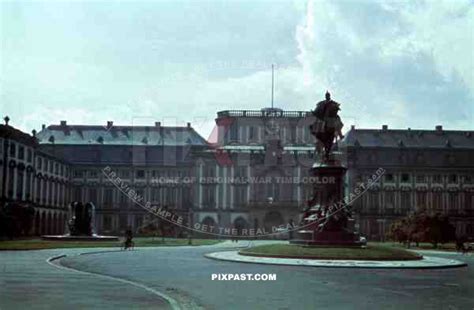
M 342 144 L 349 147 L 474 149 L 474 131 L 352 128 Z

